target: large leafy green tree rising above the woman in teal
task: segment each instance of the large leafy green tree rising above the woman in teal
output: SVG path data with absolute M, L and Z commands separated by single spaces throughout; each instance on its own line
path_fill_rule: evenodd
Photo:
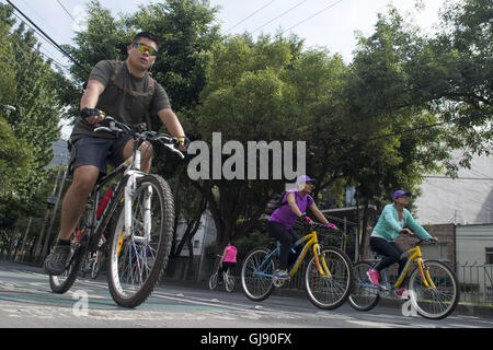
M 484 69 L 491 43 L 483 36 L 491 33 L 491 8 L 484 1 L 448 8 L 447 31 L 431 39 L 391 9 L 372 35 L 359 38 L 345 86 L 354 138 L 344 174 L 364 208 L 398 187 L 416 191 L 423 174 L 454 175 L 452 150 L 463 150 L 460 165 L 468 165 L 473 153 L 491 149 L 491 70 Z

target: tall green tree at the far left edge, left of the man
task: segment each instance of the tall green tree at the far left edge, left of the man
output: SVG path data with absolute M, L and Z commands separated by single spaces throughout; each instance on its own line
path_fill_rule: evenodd
M 47 180 L 45 166 L 53 156 L 51 142 L 59 136 L 61 106 L 53 88 L 58 75 L 44 61 L 33 32 L 15 24 L 12 11 L 0 4 L 4 44 L 0 49 L 0 214 L 7 226 L 41 205 L 36 189 Z M 5 110 L 4 105 L 14 110 Z

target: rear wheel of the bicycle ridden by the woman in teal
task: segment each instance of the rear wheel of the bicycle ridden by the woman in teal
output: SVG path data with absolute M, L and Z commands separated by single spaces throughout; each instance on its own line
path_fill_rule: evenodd
M 370 311 L 377 306 L 380 295 L 378 287 L 374 285 L 366 272 L 371 265 L 366 261 L 359 261 L 354 265 L 354 288 L 349 295 L 349 305 L 357 311 Z

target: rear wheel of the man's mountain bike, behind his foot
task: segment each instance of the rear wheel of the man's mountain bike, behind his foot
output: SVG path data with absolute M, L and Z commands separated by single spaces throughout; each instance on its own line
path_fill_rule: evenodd
M 79 220 L 74 233 L 72 233 L 72 235 L 70 236 L 70 254 L 67 258 L 65 272 L 60 276 L 49 276 L 49 288 L 55 293 L 62 294 L 72 287 L 73 282 L 76 282 L 79 271 L 82 268 L 83 261 L 85 261 L 84 257 L 88 252 L 85 222 L 88 215 L 89 212 L 84 211 L 82 218 Z

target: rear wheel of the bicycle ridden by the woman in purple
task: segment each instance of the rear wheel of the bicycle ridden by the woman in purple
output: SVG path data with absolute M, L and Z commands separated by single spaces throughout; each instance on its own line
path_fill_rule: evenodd
M 260 302 L 274 291 L 274 261 L 267 258 L 271 250 L 256 248 L 250 252 L 241 266 L 241 287 L 248 299 Z

